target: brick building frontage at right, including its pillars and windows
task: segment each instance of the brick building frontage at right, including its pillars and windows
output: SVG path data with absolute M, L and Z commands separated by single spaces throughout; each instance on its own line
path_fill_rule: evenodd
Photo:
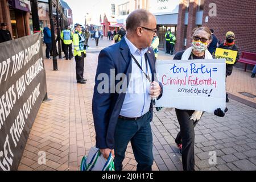
M 198 19 L 196 16 L 202 0 L 182 0 L 181 2 L 177 20 L 176 52 L 191 46 L 193 28 L 207 26 L 214 30 L 220 42 L 224 42 L 226 32 L 233 31 L 240 53 L 242 51 L 256 53 L 256 1 L 204 0 L 203 16 L 199 21 L 196 20 Z M 212 16 L 214 7 L 210 3 L 214 3 L 213 6 L 216 5 L 216 16 Z M 188 13 L 187 24 L 184 23 L 186 13 Z

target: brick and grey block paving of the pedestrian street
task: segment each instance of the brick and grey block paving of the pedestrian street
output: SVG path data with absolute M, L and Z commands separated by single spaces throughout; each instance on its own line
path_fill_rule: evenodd
M 59 71 L 52 71 L 52 60 L 45 60 L 51 100 L 40 107 L 19 170 L 79 170 L 82 156 L 94 146 L 92 96 L 97 56 L 110 42 L 100 40 L 99 47 L 93 45 L 95 43 L 90 41 L 85 59 L 85 78 L 88 79 L 85 85 L 76 84 L 74 60 L 58 60 Z M 249 76 L 248 79 L 251 80 L 249 85 L 255 85 L 256 79 Z M 234 100 L 227 106 L 229 111 L 224 118 L 205 113 L 195 128 L 197 170 L 256 170 L 256 109 Z M 151 127 L 153 169 L 182 170 L 181 156 L 174 141 L 179 131 L 175 111 L 155 111 Z M 38 164 L 39 151 L 46 152 L 45 165 Z M 216 165 L 209 164 L 209 151 L 217 153 Z M 136 165 L 129 145 L 123 161 L 124 170 L 135 170 Z

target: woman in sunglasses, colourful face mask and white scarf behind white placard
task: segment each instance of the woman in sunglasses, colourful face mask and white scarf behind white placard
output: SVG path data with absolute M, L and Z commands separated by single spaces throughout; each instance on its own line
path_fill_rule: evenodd
M 193 31 L 192 47 L 185 51 L 177 52 L 174 60 L 213 59 L 207 47 L 211 40 L 211 31 L 208 27 L 196 28 Z M 226 108 L 225 111 L 228 109 Z M 203 115 L 203 111 L 175 109 L 180 125 L 180 133 L 175 142 L 182 152 L 182 164 L 184 171 L 195 170 L 195 130 L 197 122 Z M 214 111 L 218 117 L 224 117 L 225 113 L 220 108 Z

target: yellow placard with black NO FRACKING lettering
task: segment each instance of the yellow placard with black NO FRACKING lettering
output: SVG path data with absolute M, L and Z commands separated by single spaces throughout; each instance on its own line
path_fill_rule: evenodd
M 215 57 L 216 59 L 226 59 L 226 64 L 234 64 L 237 57 L 237 51 L 217 48 Z

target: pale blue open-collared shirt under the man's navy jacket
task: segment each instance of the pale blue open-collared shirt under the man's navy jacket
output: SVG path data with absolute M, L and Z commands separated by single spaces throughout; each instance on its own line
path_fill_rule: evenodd
M 137 59 L 138 63 L 141 65 L 143 71 L 150 76 L 152 80 L 150 65 L 145 63 L 145 53 L 148 48 L 139 50 L 130 42 L 125 36 L 125 41 L 130 48 L 131 54 Z M 132 61 L 131 77 L 129 80 L 129 85 L 125 95 L 125 100 L 123 101 L 123 106 L 120 115 L 129 118 L 141 117 L 146 114 L 150 109 L 150 86 L 151 83 L 148 81 L 142 70 L 135 63 L 134 59 Z

